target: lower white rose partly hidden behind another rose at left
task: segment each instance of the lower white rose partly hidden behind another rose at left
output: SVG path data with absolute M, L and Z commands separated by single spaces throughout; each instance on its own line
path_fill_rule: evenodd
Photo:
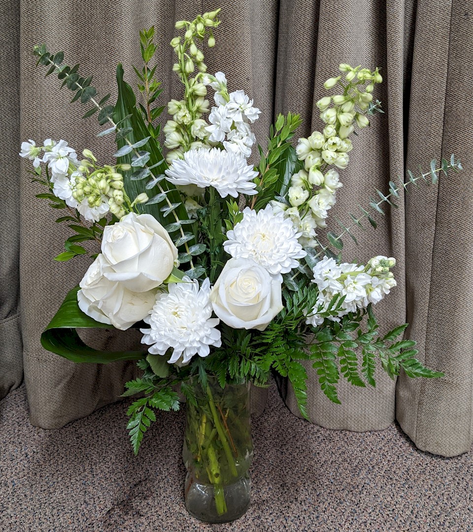
M 120 282 L 107 279 L 107 271 L 111 271 L 111 265 L 99 254 L 80 281 L 79 309 L 95 321 L 126 330 L 151 311 L 155 290 L 131 292 Z

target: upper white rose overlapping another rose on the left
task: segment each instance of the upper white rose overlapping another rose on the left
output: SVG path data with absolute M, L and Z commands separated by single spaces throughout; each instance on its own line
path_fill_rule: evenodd
M 160 286 L 174 267 L 177 248 L 151 214 L 130 212 L 103 232 L 102 253 L 110 263 L 105 277 L 132 292 Z

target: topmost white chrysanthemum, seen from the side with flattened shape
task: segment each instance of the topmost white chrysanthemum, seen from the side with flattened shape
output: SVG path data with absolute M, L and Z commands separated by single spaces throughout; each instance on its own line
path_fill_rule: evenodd
M 184 159 L 173 161 L 165 174 L 174 185 L 214 187 L 222 198 L 256 194 L 253 179 L 258 172 L 242 156 L 220 148 L 192 149 L 184 154 Z

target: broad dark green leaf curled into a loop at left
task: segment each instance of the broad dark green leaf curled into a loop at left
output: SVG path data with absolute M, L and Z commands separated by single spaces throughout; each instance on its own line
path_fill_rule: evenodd
M 76 286 L 65 297 L 59 310 L 41 335 L 41 345 L 48 351 L 73 362 L 108 364 L 116 360 L 139 360 L 144 351 L 98 351 L 80 339 L 76 329 L 114 329 L 112 325 L 99 323 L 79 309 Z

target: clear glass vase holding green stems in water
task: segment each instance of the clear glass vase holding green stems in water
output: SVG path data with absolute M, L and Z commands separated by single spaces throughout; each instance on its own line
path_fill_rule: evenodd
M 186 508 L 209 523 L 234 521 L 250 506 L 253 442 L 248 384 L 226 385 L 197 377 L 190 383 L 196 404 L 186 403 L 182 458 L 187 468 Z

